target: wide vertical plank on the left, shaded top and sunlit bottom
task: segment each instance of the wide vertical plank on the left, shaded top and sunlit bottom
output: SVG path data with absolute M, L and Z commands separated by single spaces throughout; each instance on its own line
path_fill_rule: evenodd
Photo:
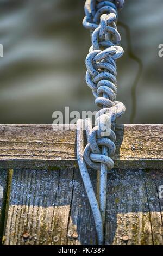
M 50 243 L 58 185 L 59 172 L 14 171 L 5 245 Z

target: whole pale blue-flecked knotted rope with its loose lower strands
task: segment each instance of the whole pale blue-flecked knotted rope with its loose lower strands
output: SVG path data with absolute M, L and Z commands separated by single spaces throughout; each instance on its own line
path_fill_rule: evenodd
M 86 0 L 84 27 L 90 29 L 92 46 L 86 57 L 86 83 L 95 96 L 95 104 L 101 107 L 96 114 L 95 127 L 91 120 L 85 120 L 87 142 L 83 149 L 84 120 L 77 121 L 77 157 L 80 172 L 95 219 L 98 244 L 104 242 L 104 223 L 106 208 L 107 172 L 114 167 L 111 157 L 115 153 L 115 121 L 124 111 L 123 103 L 116 101 L 116 60 L 123 55 L 118 46 L 121 36 L 117 31 L 118 10 L 122 9 L 124 0 Z M 111 129 L 102 127 L 111 123 Z M 86 164 L 100 170 L 99 206 L 93 191 Z

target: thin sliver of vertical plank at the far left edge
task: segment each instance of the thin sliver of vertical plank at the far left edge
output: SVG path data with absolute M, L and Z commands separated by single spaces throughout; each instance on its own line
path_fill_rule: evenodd
M 3 229 L 5 220 L 5 202 L 7 191 L 7 170 L 0 169 L 0 244 L 3 239 Z

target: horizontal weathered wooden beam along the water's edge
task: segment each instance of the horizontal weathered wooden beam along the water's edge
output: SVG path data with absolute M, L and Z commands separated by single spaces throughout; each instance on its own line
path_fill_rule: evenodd
M 76 127 L 61 127 L 67 126 L 54 131 L 52 125 L 0 125 L 0 163 L 7 168 L 77 168 Z M 163 168 L 162 131 L 163 125 L 116 125 L 115 168 Z

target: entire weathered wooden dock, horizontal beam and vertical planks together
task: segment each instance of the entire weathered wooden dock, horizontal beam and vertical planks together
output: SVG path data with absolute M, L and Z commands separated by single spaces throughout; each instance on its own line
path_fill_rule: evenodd
M 0 164 L 14 168 L 10 182 L 7 171 L 0 172 L 0 185 L 6 189 L 8 184 L 7 204 L 0 199 L 4 245 L 96 244 L 76 160 L 76 127 L 54 128 L 0 125 Z M 162 129 L 116 126 L 115 169 L 108 173 L 106 245 L 163 245 Z M 96 188 L 97 172 L 89 172 Z

